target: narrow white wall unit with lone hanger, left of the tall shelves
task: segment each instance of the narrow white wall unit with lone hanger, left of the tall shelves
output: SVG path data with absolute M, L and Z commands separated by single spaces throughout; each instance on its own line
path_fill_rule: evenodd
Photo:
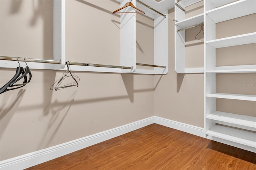
M 181 8 L 200 2 L 201 0 L 175 0 Z M 185 19 L 185 12 L 177 5 L 175 8 L 175 71 L 177 73 L 204 73 L 204 67 L 186 68 L 185 54 L 185 30 L 177 32 L 177 30 L 188 28 L 204 22 L 204 14 L 199 14 L 191 18 Z

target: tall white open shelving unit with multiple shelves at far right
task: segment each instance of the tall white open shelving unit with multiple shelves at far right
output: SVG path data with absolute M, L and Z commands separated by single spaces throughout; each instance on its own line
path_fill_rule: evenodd
M 216 74 L 256 73 L 256 65 L 216 67 L 216 49 L 256 43 L 256 32 L 216 39 L 216 23 L 256 13 L 255 0 L 205 0 L 204 81 L 206 138 L 256 152 L 256 117 L 216 111 L 216 99 L 256 101 L 256 95 L 216 93 Z

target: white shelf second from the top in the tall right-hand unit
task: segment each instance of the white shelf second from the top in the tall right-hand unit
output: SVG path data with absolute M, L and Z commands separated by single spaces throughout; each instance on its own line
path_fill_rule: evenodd
M 249 34 L 242 34 L 239 36 L 232 36 L 228 38 L 220 38 L 217 40 L 207 41 L 206 44 L 214 48 L 230 47 L 235 45 L 244 45 L 249 43 L 256 43 L 256 32 Z

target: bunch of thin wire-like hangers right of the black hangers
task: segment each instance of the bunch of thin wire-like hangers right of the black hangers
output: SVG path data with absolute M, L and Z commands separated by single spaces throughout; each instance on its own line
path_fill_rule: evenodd
M 60 77 L 60 79 L 58 79 L 52 86 L 51 86 L 51 90 L 60 90 L 60 89 L 64 89 L 66 87 L 72 87 L 72 86 L 76 86 L 78 87 L 78 81 L 80 81 L 80 78 L 75 74 L 73 73 L 71 70 L 70 70 L 70 67 L 68 66 L 69 65 L 69 61 L 66 62 L 67 64 L 67 71 L 63 73 L 62 77 Z M 64 81 L 64 79 L 66 79 L 66 77 L 72 77 L 74 79 L 74 82 L 72 83 L 68 83 L 66 85 L 62 85 L 60 86 L 60 84 Z M 55 85 L 55 86 L 54 86 Z

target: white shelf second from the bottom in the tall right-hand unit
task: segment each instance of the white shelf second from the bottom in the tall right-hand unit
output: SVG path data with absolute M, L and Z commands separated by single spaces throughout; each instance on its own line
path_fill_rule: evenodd
M 206 118 L 216 120 L 216 121 L 222 121 L 226 123 L 232 123 L 236 125 L 256 128 L 256 117 L 252 117 L 252 116 L 215 111 L 210 115 L 207 115 Z

